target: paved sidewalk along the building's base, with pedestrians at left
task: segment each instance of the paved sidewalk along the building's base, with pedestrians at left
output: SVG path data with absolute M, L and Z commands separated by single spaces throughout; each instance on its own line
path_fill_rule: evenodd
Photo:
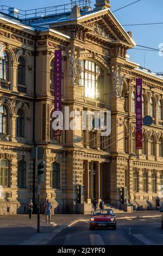
M 139 217 L 161 217 L 158 211 L 136 211 L 117 213 L 117 219 Z M 45 245 L 55 235 L 78 221 L 87 221 L 90 215 L 54 215 L 52 222 L 46 224 L 45 216 L 40 216 L 40 233 L 37 234 L 37 216 L 0 216 L 0 245 Z

